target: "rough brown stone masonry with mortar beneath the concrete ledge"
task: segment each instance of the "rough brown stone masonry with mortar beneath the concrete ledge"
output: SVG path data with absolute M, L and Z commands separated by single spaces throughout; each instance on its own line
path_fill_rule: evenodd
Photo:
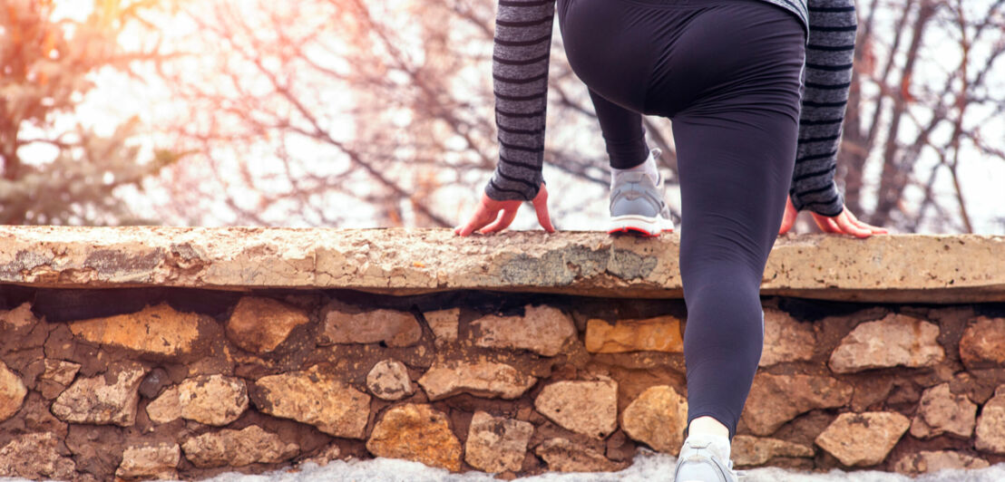
M 0 477 L 372 457 L 513 477 L 679 449 L 680 299 L 296 288 L 0 284 Z M 739 466 L 1005 461 L 1005 304 L 763 304 Z

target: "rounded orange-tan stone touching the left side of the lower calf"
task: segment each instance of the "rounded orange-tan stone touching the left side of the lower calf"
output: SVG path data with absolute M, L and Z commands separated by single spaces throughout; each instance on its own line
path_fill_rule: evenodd
M 687 400 L 665 385 L 650 387 L 621 414 L 621 429 L 632 440 L 676 456 L 684 443 Z

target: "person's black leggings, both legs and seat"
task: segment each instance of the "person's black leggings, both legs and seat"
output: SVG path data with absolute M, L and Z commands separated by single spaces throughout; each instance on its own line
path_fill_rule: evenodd
M 673 122 L 688 423 L 736 434 L 764 343 L 760 286 L 796 157 L 805 30 L 754 0 L 559 0 L 612 167 L 647 156 L 639 112 Z

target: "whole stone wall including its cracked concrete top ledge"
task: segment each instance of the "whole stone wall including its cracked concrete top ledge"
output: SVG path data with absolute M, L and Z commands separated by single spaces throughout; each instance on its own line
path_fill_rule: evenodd
M 674 237 L 468 240 L 490 264 L 461 256 L 451 270 L 456 253 L 408 256 L 393 235 L 354 257 L 359 232 L 305 247 L 251 230 L 228 250 L 237 230 L 197 242 L 147 229 L 161 234 L 139 243 L 129 230 L 19 229 L 0 229 L 0 477 L 198 479 L 381 456 L 512 478 L 614 471 L 639 448 L 681 443 Z M 421 237 L 447 239 L 403 240 Z M 765 283 L 778 292 L 763 299 L 737 464 L 1005 461 L 1003 240 L 889 237 L 847 260 L 837 253 L 867 252 L 833 239 L 791 237 L 773 253 Z M 321 261 L 333 246 L 342 264 Z M 950 254 L 883 271 L 904 256 L 891 246 Z M 943 272 L 954 265 L 965 269 Z M 415 277 L 430 266 L 439 284 Z M 533 277 L 550 270 L 579 274 Z M 390 288 L 372 285 L 381 276 Z

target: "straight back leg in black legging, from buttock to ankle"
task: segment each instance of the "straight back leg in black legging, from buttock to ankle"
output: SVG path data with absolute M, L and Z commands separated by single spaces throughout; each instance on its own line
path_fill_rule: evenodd
M 795 162 L 803 42 L 780 8 L 717 7 L 688 26 L 671 71 L 654 78 L 654 89 L 678 89 L 647 98 L 651 109 L 675 109 L 688 420 L 711 416 L 731 434 L 764 342 L 760 284 Z

